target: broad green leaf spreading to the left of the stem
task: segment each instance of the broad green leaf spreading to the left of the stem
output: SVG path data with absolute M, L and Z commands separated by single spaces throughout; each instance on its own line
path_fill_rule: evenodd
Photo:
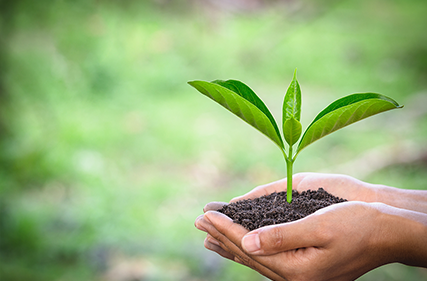
M 239 116 L 283 149 L 276 121 L 262 100 L 247 85 L 237 80 L 190 81 L 188 84 Z

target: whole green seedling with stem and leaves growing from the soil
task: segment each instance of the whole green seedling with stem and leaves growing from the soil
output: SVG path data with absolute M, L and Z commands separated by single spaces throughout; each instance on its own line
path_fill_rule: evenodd
M 357 93 L 340 98 L 322 110 L 301 137 L 301 89 L 296 69 L 283 101 L 282 127 L 285 146 L 273 115 L 264 102 L 244 83 L 237 80 L 190 81 L 191 86 L 213 99 L 270 138 L 282 151 L 287 167 L 287 198 L 292 201 L 292 175 L 295 159 L 308 145 L 366 117 L 401 108 L 381 94 Z M 294 146 L 301 140 L 294 150 Z

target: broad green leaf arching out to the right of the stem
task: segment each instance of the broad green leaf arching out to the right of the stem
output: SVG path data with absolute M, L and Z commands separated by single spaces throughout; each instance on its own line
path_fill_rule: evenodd
M 322 110 L 308 126 L 298 145 L 297 154 L 316 140 L 369 116 L 401 108 L 396 101 L 381 94 L 352 94 L 340 98 Z

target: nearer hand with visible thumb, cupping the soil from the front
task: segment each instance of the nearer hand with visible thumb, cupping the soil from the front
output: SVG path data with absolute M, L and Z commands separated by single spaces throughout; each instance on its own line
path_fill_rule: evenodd
M 252 232 L 215 211 L 196 220 L 208 249 L 273 280 L 354 280 L 396 261 L 427 266 L 426 225 L 425 214 L 363 202 Z

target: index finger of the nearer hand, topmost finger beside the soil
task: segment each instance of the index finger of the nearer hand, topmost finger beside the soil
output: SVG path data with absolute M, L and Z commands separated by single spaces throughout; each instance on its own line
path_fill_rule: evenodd
M 258 271 L 260 274 L 272 280 L 285 280 L 242 251 L 241 239 L 248 233 L 247 229 L 239 224 L 233 223 L 230 218 L 218 212 L 207 212 L 205 218 L 212 226 L 212 228 L 206 226 L 208 232 L 220 243 L 222 248 L 227 248 L 229 252 L 233 253 L 237 262 Z

